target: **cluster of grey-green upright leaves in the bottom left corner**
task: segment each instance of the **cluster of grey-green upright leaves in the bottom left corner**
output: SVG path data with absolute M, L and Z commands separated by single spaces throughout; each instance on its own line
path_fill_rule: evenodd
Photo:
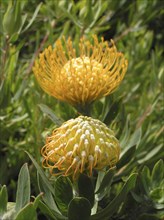
M 0 218 L 2 220 L 23 220 L 27 218 L 36 220 L 36 209 L 41 199 L 41 194 L 38 195 L 33 202 L 30 202 L 30 191 L 29 170 L 27 164 L 24 164 L 18 176 L 16 202 L 8 202 L 6 186 L 0 189 Z

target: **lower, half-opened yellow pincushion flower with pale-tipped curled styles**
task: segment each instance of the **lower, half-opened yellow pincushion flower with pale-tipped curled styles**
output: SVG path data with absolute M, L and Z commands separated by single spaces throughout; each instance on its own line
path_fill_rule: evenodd
M 113 167 L 119 160 L 120 147 L 114 133 L 99 120 L 80 116 L 54 130 L 41 151 L 43 166 L 52 175 L 79 173 Z

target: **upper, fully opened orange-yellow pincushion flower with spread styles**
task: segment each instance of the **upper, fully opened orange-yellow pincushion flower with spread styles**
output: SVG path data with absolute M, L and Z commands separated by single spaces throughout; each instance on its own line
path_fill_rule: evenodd
M 33 67 L 42 89 L 74 106 L 86 106 L 113 92 L 127 70 L 127 60 L 103 38 L 93 36 L 93 44 L 80 39 L 74 49 L 71 39 L 57 40 L 40 54 Z

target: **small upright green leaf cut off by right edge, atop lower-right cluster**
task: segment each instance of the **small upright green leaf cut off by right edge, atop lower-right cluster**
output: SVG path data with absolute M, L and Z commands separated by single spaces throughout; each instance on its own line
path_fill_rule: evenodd
M 153 187 L 158 187 L 159 184 L 162 182 L 164 177 L 164 164 L 163 160 L 159 160 L 153 168 L 152 171 L 152 185 Z

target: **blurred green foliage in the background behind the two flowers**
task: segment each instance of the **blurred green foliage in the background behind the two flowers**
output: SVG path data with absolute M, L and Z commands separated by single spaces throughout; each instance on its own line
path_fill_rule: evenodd
M 45 137 L 60 122 L 79 115 L 73 107 L 45 94 L 32 72 L 38 54 L 63 35 L 75 45 L 83 35 L 114 39 L 128 59 L 127 74 L 117 91 L 97 100 L 91 109 L 91 116 L 114 129 L 121 141 L 114 183 L 134 170 L 140 172 L 144 165 L 152 170 L 164 157 L 163 3 L 1 0 L 0 184 L 7 185 L 11 201 L 20 167 L 29 161 L 24 151 L 40 163 Z M 29 169 L 36 195 L 35 171 L 32 165 Z M 117 188 L 114 184 L 116 193 Z

